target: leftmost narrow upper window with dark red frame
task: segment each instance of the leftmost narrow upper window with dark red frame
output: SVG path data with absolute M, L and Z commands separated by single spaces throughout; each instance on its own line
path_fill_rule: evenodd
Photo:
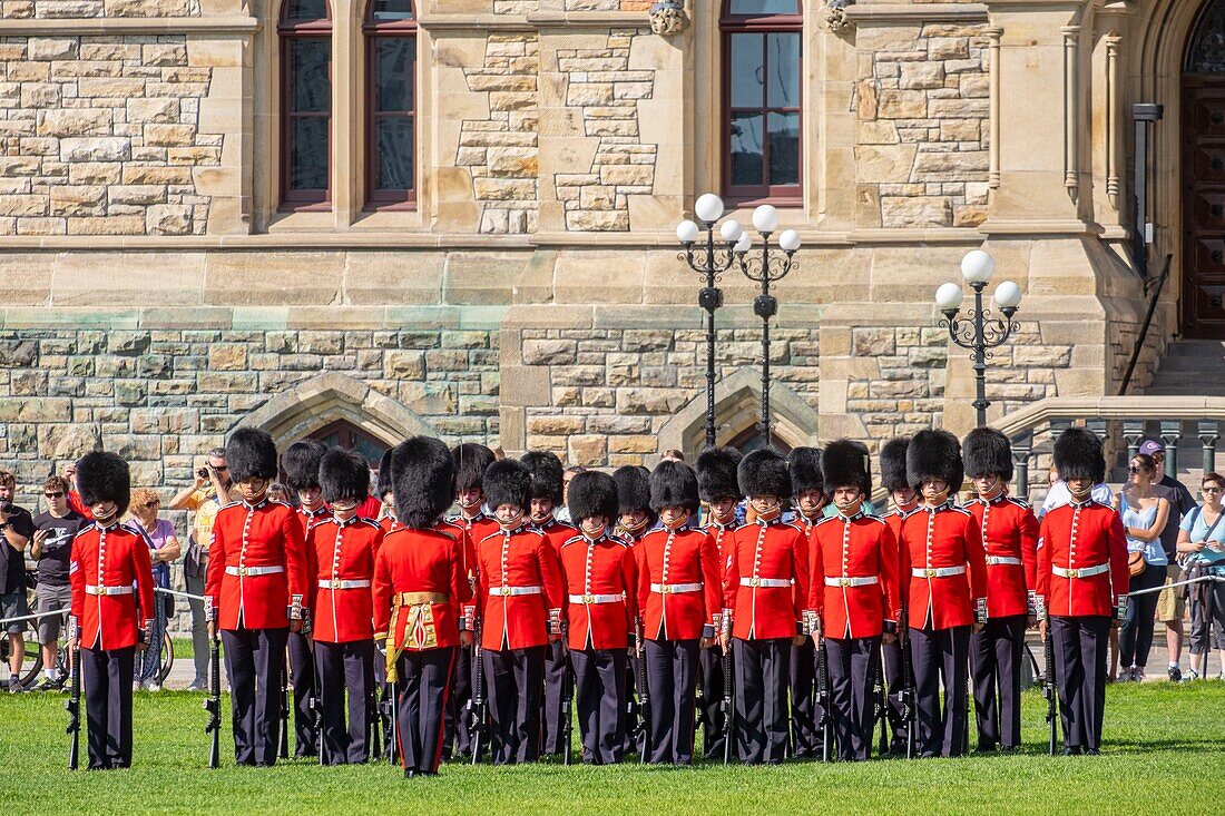
M 285 0 L 281 23 L 281 201 L 331 200 L 332 13 L 327 0 Z

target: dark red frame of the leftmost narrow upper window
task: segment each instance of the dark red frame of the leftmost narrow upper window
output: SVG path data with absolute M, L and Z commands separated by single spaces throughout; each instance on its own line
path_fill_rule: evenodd
M 294 61 L 290 56 L 293 43 L 305 39 L 326 38 L 328 44 L 327 76 L 328 82 L 332 76 L 332 4 L 326 2 L 327 17 L 323 20 L 287 20 L 293 0 L 288 0 L 281 10 L 281 21 L 277 23 L 277 34 L 281 38 L 281 210 L 330 210 L 332 206 L 332 102 L 328 99 L 327 111 L 294 113 L 290 110 L 293 88 L 296 77 L 294 76 Z M 327 119 L 327 187 L 323 190 L 293 190 L 289 186 L 290 164 L 293 159 L 293 124 L 294 119 Z

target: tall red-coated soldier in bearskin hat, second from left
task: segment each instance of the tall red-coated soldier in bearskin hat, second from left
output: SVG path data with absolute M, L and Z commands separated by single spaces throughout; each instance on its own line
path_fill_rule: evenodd
M 209 635 L 221 631 L 225 653 L 234 760 L 271 766 L 285 641 L 305 616 L 305 543 L 294 508 L 266 495 L 277 477 L 272 437 L 240 428 L 225 444 L 225 461 L 241 501 L 222 507 L 213 522 L 205 606 Z

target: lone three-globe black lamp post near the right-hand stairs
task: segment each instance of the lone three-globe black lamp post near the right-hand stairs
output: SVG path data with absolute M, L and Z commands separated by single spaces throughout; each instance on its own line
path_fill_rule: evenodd
M 964 299 L 962 285 L 946 283 L 936 289 L 936 304 L 944 312 L 941 326 L 948 327 L 948 336 L 962 348 L 970 349 L 974 360 L 976 393 L 974 409 L 978 412 L 978 426 L 987 424 L 987 360 L 990 349 L 1005 343 L 1019 326 L 1012 322 L 1012 316 L 1020 306 L 1020 287 L 1012 281 L 1005 281 L 996 287 L 995 301 L 1003 312 L 1003 319 L 992 317 L 991 310 L 982 308 L 982 290 L 995 274 L 995 260 L 982 250 L 971 250 L 962 259 L 962 277 L 974 289 L 974 309 L 965 317 L 958 317 Z

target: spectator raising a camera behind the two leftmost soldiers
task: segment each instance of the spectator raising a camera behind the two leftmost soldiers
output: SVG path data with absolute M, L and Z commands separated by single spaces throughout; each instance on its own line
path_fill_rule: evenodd
M 213 518 L 217 517 L 218 510 L 238 497 L 238 490 L 230 482 L 229 467 L 225 464 L 225 448 L 214 447 L 208 451 L 207 463 L 196 470 L 195 484 L 184 488 L 170 500 L 170 510 L 191 510 L 196 513 L 187 539 L 187 555 L 183 559 L 183 577 L 187 592 L 194 595 L 205 594 L 208 545 L 213 540 Z M 196 664 L 196 678 L 187 690 L 203 691 L 208 687 L 208 621 L 205 620 L 202 600 L 189 600 L 187 608 L 191 610 L 191 655 Z

